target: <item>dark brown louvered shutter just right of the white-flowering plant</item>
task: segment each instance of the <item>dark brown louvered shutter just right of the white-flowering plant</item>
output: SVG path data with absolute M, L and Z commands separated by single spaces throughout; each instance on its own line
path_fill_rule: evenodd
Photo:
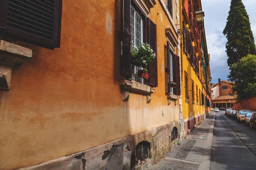
M 157 26 L 148 18 L 148 44 L 156 57 L 149 63 L 149 84 L 157 87 Z

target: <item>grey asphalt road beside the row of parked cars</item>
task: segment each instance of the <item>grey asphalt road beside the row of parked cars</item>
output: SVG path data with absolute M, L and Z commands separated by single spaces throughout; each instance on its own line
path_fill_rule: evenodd
M 256 170 L 256 130 L 216 112 L 210 170 Z

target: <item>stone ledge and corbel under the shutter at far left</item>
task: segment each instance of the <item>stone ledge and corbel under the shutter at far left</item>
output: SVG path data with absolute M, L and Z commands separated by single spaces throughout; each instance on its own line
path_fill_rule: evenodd
M 12 68 L 31 57 L 31 49 L 0 40 L 0 88 L 10 89 Z

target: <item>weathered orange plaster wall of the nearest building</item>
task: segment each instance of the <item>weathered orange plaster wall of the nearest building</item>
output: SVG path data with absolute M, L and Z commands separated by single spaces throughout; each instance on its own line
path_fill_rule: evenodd
M 0 91 L 0 169 L 16 169 L 83 151 L 179 120 L 164 84 L 165 28 L 157 24 L 158 87 L 122 101 L 114 0 L 63 1 L 61 48 L 31 48 L 33 57 L 13 70 L 9 91 Z M 160 15 L 157 15 L 157 12 Z M 116 43 L 117 42 L 117 43 Z M 118 44 L 118 45 L 116 45 Z

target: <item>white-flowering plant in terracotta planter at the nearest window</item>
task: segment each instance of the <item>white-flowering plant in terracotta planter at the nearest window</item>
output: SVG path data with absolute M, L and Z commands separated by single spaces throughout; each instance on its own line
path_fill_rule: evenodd
M 150 74 L 148 73 L 148 64 L 156 57 L 156 54 L 153 54 L 153 50 L 147 43 L 140 43 L 140 47 L 137 47 L 131 44 L 131 63 L 140 68 L 138 70 L 138 77 L 148 79 Z

